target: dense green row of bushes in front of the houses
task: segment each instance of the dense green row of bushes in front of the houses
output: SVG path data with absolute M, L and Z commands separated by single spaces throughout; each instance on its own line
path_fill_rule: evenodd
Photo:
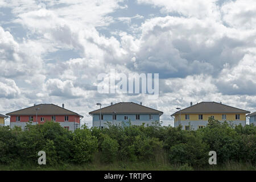
M 99 129 L 83 127 L 67 131 L 56 122 L 43 125 L 0 127 L 0 166 L 39 166 L 38 152 L 46 152 L 46 166 L 118 165 L 161 161 L 163 166 L 181 165 L 181 169 L 209 166 L 209 151 L 217 152 L 217 165 L 256 163 L 256 126 L 230 126 L 209 119 L 196 131 L 181 127 L 114 126 Z M 97 169 L 97 168 L 96 168 Z M 150 168 L 152 169 L 152 168 Z M 254 168 L 255 169 L 255 168 Z

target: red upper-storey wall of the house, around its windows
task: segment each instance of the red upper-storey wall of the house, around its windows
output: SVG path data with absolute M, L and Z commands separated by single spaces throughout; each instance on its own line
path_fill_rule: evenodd
M 16 116 L 18 115 L 11 115 L 10 122 L 16 122 Z M 38 115 L 38 123 L 41 123 L 41 118 L 44 117 L 44 122 L 51 121 L 52 115 Z M 19 122 L 28 122 L 30 120 L 29 115 L 20 115 Z M 55 115 L 56 122 L 64 122 L 65 115 Z M 76 122 L 80 123 L 80 117 L 78 115 L 68 115 L 68 122 Z M 36 122 L 36 115 L 33 115 L 33 122 Z

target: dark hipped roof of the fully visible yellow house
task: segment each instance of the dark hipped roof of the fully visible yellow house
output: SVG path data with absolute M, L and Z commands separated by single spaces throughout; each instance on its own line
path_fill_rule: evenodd
M 192 106 L 189 106 L 185 109 L 182 109 L 180 111 L 176 111 L 176 113 L 172 114 L 171 116 L 174 116 L 175 114 L 211 114 L 211 113 L 250 113 L 250 111 L 238 109 L 236 107 L 220 104 L 217 102 L 200 102 L 199 104 L 195 104 Z

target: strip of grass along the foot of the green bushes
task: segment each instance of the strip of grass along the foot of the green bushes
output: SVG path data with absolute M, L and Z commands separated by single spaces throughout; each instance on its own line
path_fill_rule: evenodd
M 5 171 L 256 171 L 256 166 L 250 163 L 228 162 L 225 164 L 207 165 L 204 167 L 190 167 L 187 164 L 163 164 L 156 162 L 114 162 L 112 164 L 63 164 L 59 166 L 35 166 L 10 164 L 0 166 Z

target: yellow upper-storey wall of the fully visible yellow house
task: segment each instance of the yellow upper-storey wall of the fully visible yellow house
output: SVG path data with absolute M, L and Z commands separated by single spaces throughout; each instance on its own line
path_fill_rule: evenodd
M 225 113 L 224 113 L 225 114 Z M 240 121 L 246 121 L 246 114 L 244 113 L 237 113 L 240 114 Z M 198 119 L 199 114 L 189 114 L 189 120 L 185 119 L 185 114 L 180 114 L 180 121 L 202 121 Z M 222 121 L 222 114 L 203 114 L 203 121 L 208 121 L 208 118 L 210 116 L 214 116 L 214 119 L 217 119 L 218 121 Z M 236 121 L 236 113 L 234 114 L 226 114 L 226 121 Z M 174 121 L 179 121 L 179 114 L 175 114 Z

